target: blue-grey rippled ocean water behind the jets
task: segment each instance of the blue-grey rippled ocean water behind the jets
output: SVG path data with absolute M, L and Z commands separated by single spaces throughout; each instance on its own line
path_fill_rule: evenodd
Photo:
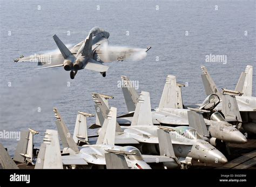
M 0 10 L 0 131 L 38 130 L 36 147 L 46 129 L 56 129 L 53 107 L 59 109 L 71 133 L 78 110 L 95 114 L 92 92 L 114 96 L 110 106 L 117 107 L 118 115 L 125 114 L 118 87 L 121 75 L 138 81 L 138 92 L 150 92 L 155 108 L 168 74 L 187 82 L 183 100 L 191 104 L 206 97 L 201 65 L 219 88 L 228 89 L 235 88 L 246 65 L 256 65 L 255 1 L 0 0 Z M 105 78 L 82 70 L 71 80 L 63 68 L 39 71 L 35 63 L 13 61 L 21 54 L 57 50 L 53 34 L 65 44 L 77 44 L 94 26 L 110 32 L 110 45 L 152 49 L 143 60 L 107 64 Z M 227 63 L 206 62 L 208 54 L 225 55 Z M 94 122 L 93 117 L 87 121 L 88 125 Z M 0 141 L 13 155 L 17 141 Z

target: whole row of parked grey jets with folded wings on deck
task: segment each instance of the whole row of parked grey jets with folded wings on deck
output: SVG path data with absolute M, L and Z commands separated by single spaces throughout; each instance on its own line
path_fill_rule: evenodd
M 247 142 L 242 132 L 256 133 L 256 101 L 252 96 L 253 67 L 246 66 L 235 90 L 219 91 L 206 67 L 201 66 L 206 91 L 203 103 L 186 106 L 174 75 L 167 75 L 159 107 L 151 108 L 150 93 L 137 93 L 128 77 L 122 76 L 122 91 L 128 113 L 117 116 L 109 106 L 113 96 L 92 93 L 96 122 L 87 134 L 87 117 L 78 112 L 71 136 L 57 108 L 53 108 L 57 130 L 47 129 L 39 153 L 33 148 L 29 129 L 21 135 L 11 159 L 0 146 L 3 168 L 18 168 L 18 163 L 35 164 L 35 169 L 186 169 L 193 162 L 224 164 L 227 158 L 220 144 Z M 60 150 L 59 137 L 62 144 Z M 15 162 L 16 163 L 15 163 Z

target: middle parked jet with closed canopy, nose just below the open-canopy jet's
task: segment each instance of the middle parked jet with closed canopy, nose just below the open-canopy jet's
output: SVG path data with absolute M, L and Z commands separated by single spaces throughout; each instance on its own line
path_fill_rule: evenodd
M 100 108 L 100 110 L 96 109 L 98 114 L 106 110 L 104 109 L 104 101 L 101 98 L 97 99 L 96 105 Z M 101 117 L 99 117 L 99 121 L 102 121 Z M 169 131 L 174 154 L 179 158 L 181 164 L 191 164 L 192 159 L 209 163 L 227 162 L 226 157 L 210 143 L 203 140 L 194 128 L 153 125 L 149 92 L 142 92 L 139 95 L 131 126 L 121 126 L 121 128 L 123 133 L 117 132 L 116 137 L 134 138 L 140 143 L 139 145 L 134 144 L 134 146 L 138 147 L 145 154 L 158 153 L 159 138 L 157 130 L 160 128 Z

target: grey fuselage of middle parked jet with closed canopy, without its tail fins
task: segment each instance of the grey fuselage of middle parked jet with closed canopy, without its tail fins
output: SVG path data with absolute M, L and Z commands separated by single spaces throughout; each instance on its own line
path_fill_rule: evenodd
M 142 143 L 142 146 L 148 147 L 148 150 L 152 149 L 152 145 L 154 146 L 155 144 L 158 144 L 157 126 L 147 125 L 122 128 L 124 129 L 124 134 L 120 136 L 132 137 L 138 142 Z M 191 157 L 194 160 L 199 160 L 200 162 L 214 163 L 216 159 L 219 163 L 227 162 L 226 157 L 222 153 L 220 153 L 219 150 L 217 150 L 210 143 L 197 136 L 197 133 L 195 133 L 195 135 L 192 137 L 184 137 L 180 134 L 186 129 L 191 129 L 190 127 L 173 127 L 173 129 L 175 131 L 170 131 L 170 136 L 174 148 L 174 154 L 177 157 Z M 116 137 L 118 136 L 119 135 L 117 135 Z

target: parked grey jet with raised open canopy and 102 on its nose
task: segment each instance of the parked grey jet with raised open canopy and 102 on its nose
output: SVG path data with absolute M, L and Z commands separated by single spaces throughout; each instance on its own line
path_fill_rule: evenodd
M 133 115 L 134 108 L 138 102 L 138 93 L 131 85 L 129 78 L 122 76 L 123 94 L 129 114 L 119 116 L 120 124 L 129 123 Z M 210 138 L 210 142 L 215 146 L 217 140 L 231 143 L 246 143 L 246 137 L 240 133 L 232 124 L 225 121 L 221 114 L 212 112 L 212 109 L 218 105 L 218 95 L 212 94 L 207 96 L 200 108 L 184 108 L 181 97 L 181 84 L 176 83 L 176 77 L 168 75 L 164 86 L 164 91 L 161 96 L 160 104 L 157 109 L 152 110 L 152 120 L 154 124 L 162 124 L 166 126 L 188 126 L 188 112 L 204 114 L 206 123 L 206 131 L 199 130 L 199 134 Z M 200 128 L 200 127 L 199 127 Z M 197 128 L 198 129 L 198 128 Z

